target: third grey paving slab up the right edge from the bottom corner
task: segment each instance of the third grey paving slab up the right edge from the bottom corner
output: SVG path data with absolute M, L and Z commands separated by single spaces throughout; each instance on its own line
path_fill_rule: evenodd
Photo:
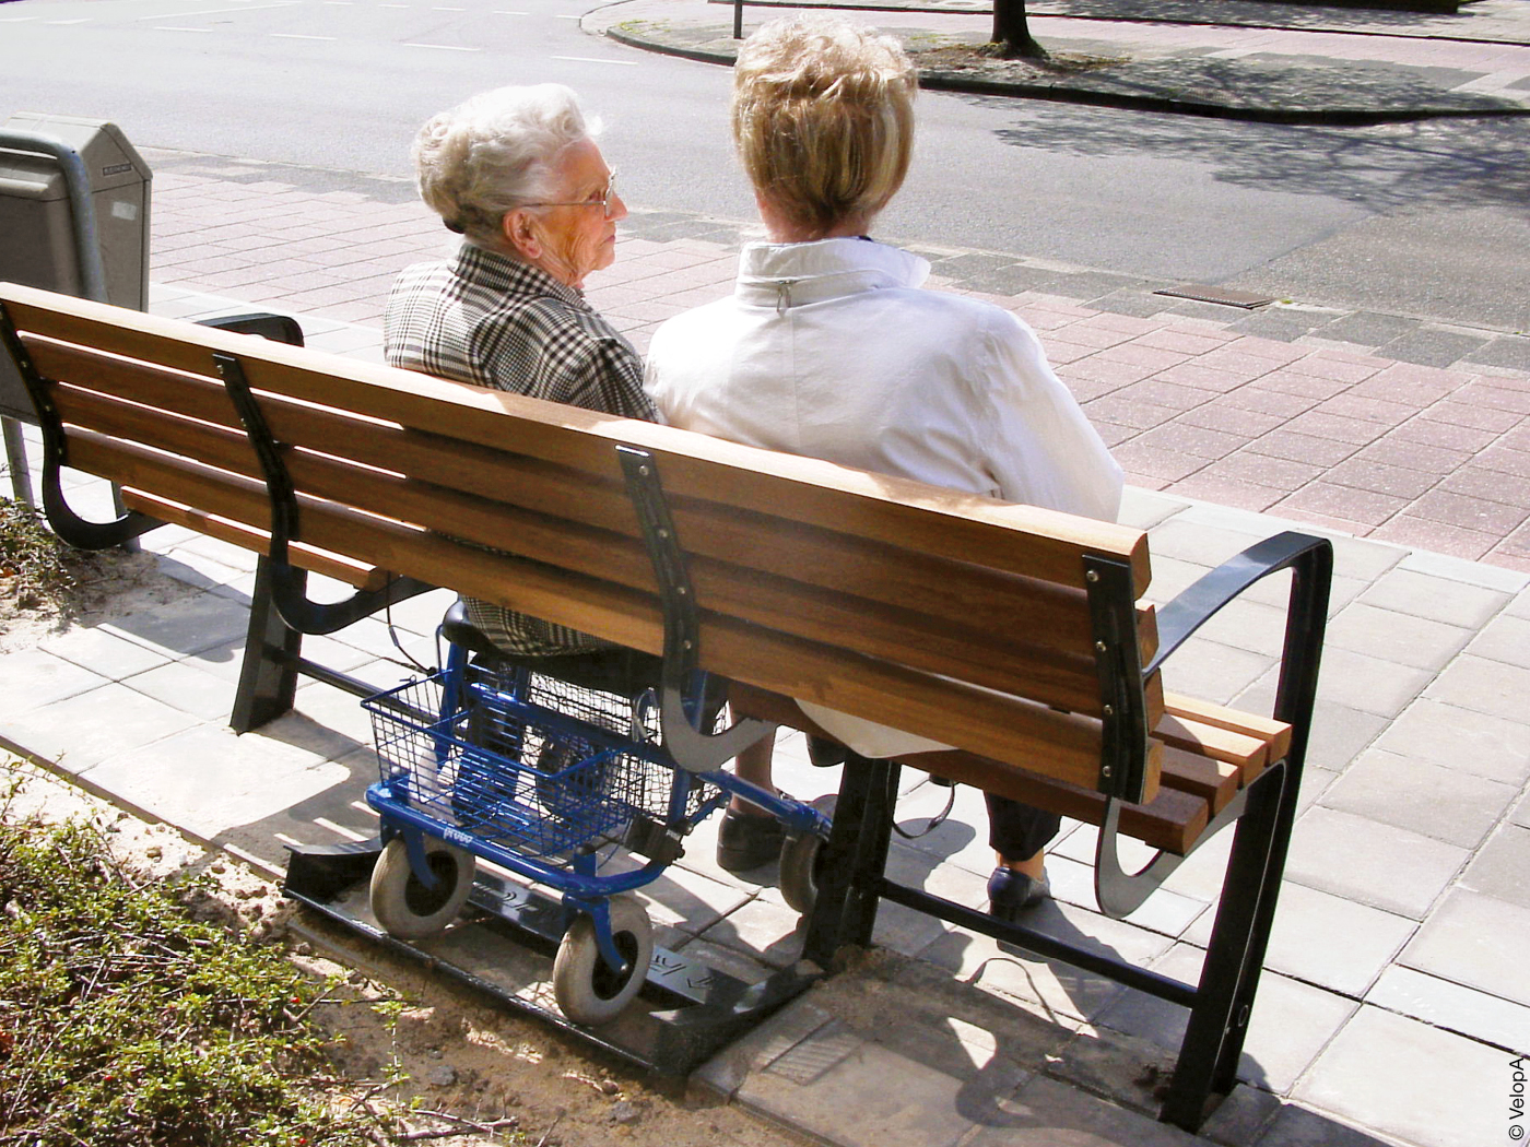
M 1418 930 L 1398 963 L 1530 1005 L 1525 936 L 1530 908 L 1458 890 Z

